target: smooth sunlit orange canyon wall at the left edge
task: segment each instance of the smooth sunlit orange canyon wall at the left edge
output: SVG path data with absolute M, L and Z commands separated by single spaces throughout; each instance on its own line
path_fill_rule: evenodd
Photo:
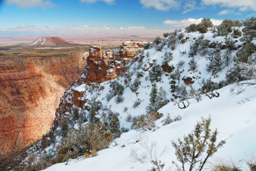
M 0 58 L 0 159 L 49 131 L 65 88 L 82 67 L 82 55 Z

